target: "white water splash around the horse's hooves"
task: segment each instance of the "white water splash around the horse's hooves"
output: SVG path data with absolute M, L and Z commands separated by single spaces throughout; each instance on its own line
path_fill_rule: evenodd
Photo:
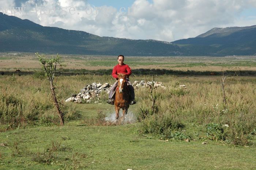
M 128 112 L 127 115 L 125 115 L 124 117 L 122 116 L 122 114 L 123 112 L 120 111 L 118 122 L 121 121 L 121 124 L 131 124 L 136 122 L 136 116 L 132 112 Z M 116 123 L 116 113 L 110 113 L 108 117 L 105 117 L 105 120 Z

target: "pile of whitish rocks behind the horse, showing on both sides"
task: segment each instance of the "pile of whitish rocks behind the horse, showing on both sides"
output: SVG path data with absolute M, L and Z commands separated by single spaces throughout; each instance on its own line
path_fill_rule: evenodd
M 145 83 L 144 80 L 140 82 L 135 81 L 134 83 L 132 83 L 132 86 L 136 89 L 140 87 L 149 87 L 149 85 L 152 86 L 152 82 Z M 111 86 L 112 85 L 110 85 L 109 83 L 105 83 L 103 85 L 101 83 L 87 84 L 84 88 L 81 89 L 78 94 L 72 95 L 72 97 L 66 99 L 65 102 L 82 103 L 84 101 L 86 103 L 90 103 L 91 99 L 99 100 L 99 94 L 102 91 L 106 91 L 109 94 Z M 165 86 L 162 85 L 162 82 L 154 82 L 154 87 L 165 88 Z M 95 101 L 95 103 L 97 103 L 97 101 Z

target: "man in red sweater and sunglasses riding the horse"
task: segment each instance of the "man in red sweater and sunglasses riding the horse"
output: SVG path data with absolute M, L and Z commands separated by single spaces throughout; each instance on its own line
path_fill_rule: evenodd
M 129 92 L 130 92 L 130 95 L 131 95 L 131 102 L 129 103 L 130 105 L 134 105 L 136 103 L 135 101 L 135 94 L 134 94 L 134 88 L 132 87 L 132 84 L 131 82 L 129 81 L 128 77 L 131 75 L 132 73 L 132 70 L 131 68 L 127 65 L 127 64 L 124 64 L 124 56 L 123 55 L 119 55 L 117 57 L 117 61 L 118 61 L 118 64 L 113 68 L 113 71 L 112 71 L 112 76 L 114 79 L 116 79 L 116 82 L 112 85 L 111 87 L 111 90 L 109 92 L 109 99 L 107 101 L 107 103 L 111 104 L 111 105 L 114 105 L 114 92 L 116 90 L 116 87 L 117 87 L 117 84 L 118 84 L 118 75 L 117 73 L 125 73 L 125 75 L 127 75 L 127 82 L 128 82 L 128 89 L 129 89 Z

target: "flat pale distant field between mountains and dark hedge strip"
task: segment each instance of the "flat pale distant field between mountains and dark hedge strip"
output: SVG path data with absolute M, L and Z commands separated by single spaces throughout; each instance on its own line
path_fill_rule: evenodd
M 49 55 L 50 56 L 50 55 Z M 66 69 L 112 69 L 117 56 L 61 55 Z M 226 57 L 136 57 L 125 56 L 125 63 L 132 69 L 172 69 L 180 71 L 256 71 L 256 56 Z M 22 69 L 33 71 L 40 68 L 33 53 L 0 53 L 0 71 Z

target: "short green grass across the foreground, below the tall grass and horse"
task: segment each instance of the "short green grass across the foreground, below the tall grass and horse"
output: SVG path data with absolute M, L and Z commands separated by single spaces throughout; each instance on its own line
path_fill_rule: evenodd
M 131 107 L 134 110 L 136 106 Z M 113 107 L 106 104 L 79 105 L 78 109 L 83 118 L 94 117 L 98 110 L 113 112 Z M 256 167 L 255 147 L 229 146 L 209 140 L 204 145 L 204 140 L 162 141 L 138 135 L 138 126 L 138 123 L 83 126 L 76 120 L 64 127 L 35 126 L 1 132 L 1 143 L 8 148 L 0 147 L 0 169 L 253 170 Z M 60 146 L 49 156 L 47 164 L 44 161 L 52 142 Z M 38 159 L 41 162 L 34 161 Z

